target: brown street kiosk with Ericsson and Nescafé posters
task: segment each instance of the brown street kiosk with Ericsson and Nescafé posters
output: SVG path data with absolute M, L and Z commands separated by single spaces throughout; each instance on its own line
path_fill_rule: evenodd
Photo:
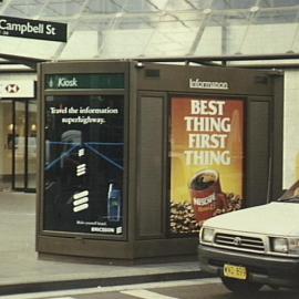
M 195 255 L 205 219 L 280 195 L 282 95 L 278 72 L 41 63 L 37 251 Z

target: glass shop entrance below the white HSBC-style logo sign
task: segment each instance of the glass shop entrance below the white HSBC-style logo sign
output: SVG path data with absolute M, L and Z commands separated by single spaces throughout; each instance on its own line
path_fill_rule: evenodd
M 2 100 L 0 127 L 0 189 L 35 192 L 35 101 Z

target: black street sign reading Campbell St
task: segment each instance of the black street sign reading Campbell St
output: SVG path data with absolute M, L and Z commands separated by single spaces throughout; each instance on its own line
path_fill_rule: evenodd
M 66 42 L 65 23 L 0 16 L 0 35 Z

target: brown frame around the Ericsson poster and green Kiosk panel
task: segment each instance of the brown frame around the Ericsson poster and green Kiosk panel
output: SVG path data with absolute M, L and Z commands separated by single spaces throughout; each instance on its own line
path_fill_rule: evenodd
M 47 63 L 45 63 L 47 65 Z M 122 68 L 120 70 L 97 70 L 94 66 L 92 68 L 93 71 L 90 71 L 87 68 L 81 69 L 81 70 L 73 70 L 72 65 L 66 64 L 65 69 L 61 70 L 54 70 L 54 72 L 51 70 L 51 64 L 49 64 L 50 70 L 45 71 L 42 78 L 42 81 L 40 82 L 42 89 L 44 89 L 47 85 L 45 76 L 47 75 L 62 75 L 65 73 L 69 74 L 110 74 L 110 73 L 123 73 L 124 74 L 124 89 L 109 89 L 109 90 L 101 90 L 101 89 L 78 89 L 78 90 L 43 90 L 42 95 L 40 95 L 41 102 L 39 106 L 39 127 L 44 127 L 44 115 L 45 115 L 45 99 L 48 96 L 55 96 L 55 95 L 123 95 L 124 97 L 124 120 L 128 117 L 128 70 L 126 68 Z M 39 90 L 41 92 L 41 90 Z M 44 131 L 40 130 L 39 133 L 40 141 L 44 141 Z M 38 182 L 38 197 L 40 197 L 40 200 L 38 200 L 37 210 L 38 210 L 38 230 L 42 236 L 55 236 L 55 237 L 78 237 L 78 238 L 84 238 L 84 239 L 101 239 L 101 240 L 126 240 L 127 239 L 127 155 L 128 155 L 128 128 L 127 124 L 124 122 L 124 155 L 123 155 L 123 162 L 124 162 L 124 175 L 123 175 L 123 234 L 122 235 L 105 235 L 105 234 L 87 234 L 87 233 L 70 233 L 70 231 L 55 231 L 55 230 L 45 230 L 43 228 L 43 212 L 44 212 L 44 158 L 45 158 L 45 148 L 44 144 L 42 145 L 43 151 L 40 153 L 40 156 L 38 158 L 39 162 L 39 169 L 41 172 L 41 176 L 39 176 Z

